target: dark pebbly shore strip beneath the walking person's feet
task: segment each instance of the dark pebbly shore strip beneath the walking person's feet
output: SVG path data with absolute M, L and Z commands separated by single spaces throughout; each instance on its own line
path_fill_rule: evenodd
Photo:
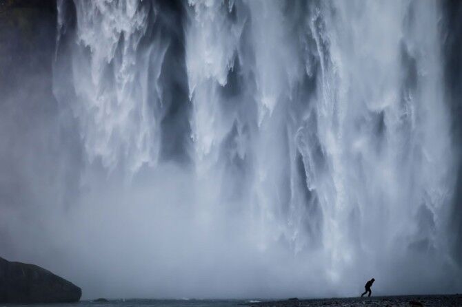
M 251 307 L 449 307 L 462 306 L 462 295 L 409 295 L 387 297 L 346 297 L 330 299 L 286 299 L 281 301 L 249 302 L 244 305 Z

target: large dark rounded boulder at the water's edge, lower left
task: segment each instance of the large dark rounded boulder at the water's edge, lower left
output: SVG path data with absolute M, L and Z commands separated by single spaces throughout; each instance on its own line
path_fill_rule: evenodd
M 70 303 L 81 295 L 81 288 L 44 268 L 0 257 L 0 303 Z

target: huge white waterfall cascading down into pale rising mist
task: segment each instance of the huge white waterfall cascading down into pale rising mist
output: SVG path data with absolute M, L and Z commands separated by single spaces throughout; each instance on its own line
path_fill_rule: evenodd
M 84 293 L 461 288 L 438 2 L 57 5 Z

